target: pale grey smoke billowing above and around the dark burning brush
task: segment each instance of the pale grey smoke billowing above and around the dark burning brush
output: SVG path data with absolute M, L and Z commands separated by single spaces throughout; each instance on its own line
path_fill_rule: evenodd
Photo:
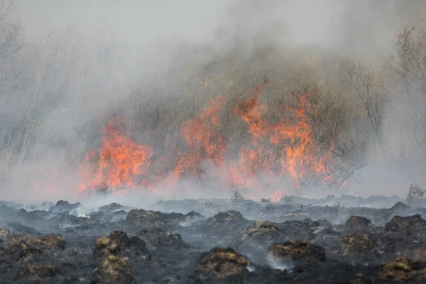
M 349 92 L 349 83 L 340 81 L 346 76 L 340 61 L 354 58 L 381 74 L 384 60 L 395 53 L 395 35 L 426 11 L 420 0 L 409 6 L 397 0 L 26 0 L 15 6 L 9 18 L 0 17 L 5 23 L 18 19 L 21 30 L 13 40 L 23 39 L 13 54 L 0 52 L 0 199 L 18 202 L 75 199 L 76 168 L 99 148 L 99 130 L 115 114 L 136 121 L 136 141 L 168 153 L 178 121 L 200 113 L 211 95 L 201 97 L 200 81 L 216 72 L 222 77 L 212 82 L 214 94 L 230 92 L 225 77 L 261 80 L 266 70 L 271 80 L 285 77 L 288 91 L 315 81 L 333 86 L 337 97 L 339 88 Z M 7 38 L 11 31 L 3 28 L 0 35 Z M 357 158 L 368 164 L 356 172 L 359 183 L 350 183 L 359 195 L 404 196 L 409 183 L 420 179 L 421 159 L 405 170 L 395 165 L 400 134 L 393 126 L 410 111 L 395 95 L 383 118 L 388 151 Z M 193 97 L 190 107 L 185 96 Z M 361 103 L 348 102 L 346 109 L 365 116 Z M 365 133 L 373 137 L 368 127 Z M 182 180 L 179 188 L 182 198 L 205 196 L 192 180 Z M 200 193 L 185 195 L 182 188 Z

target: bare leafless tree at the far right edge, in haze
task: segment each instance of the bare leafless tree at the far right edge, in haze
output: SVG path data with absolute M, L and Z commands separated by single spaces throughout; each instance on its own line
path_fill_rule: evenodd
M 424 160 L 426 155 L 426 26 L 407 26 L 395 38 L 395 55 L 386 60 L 385 70 L 392 95 L 400 115 L 398 126 L 399 154 L 405 164 Z

